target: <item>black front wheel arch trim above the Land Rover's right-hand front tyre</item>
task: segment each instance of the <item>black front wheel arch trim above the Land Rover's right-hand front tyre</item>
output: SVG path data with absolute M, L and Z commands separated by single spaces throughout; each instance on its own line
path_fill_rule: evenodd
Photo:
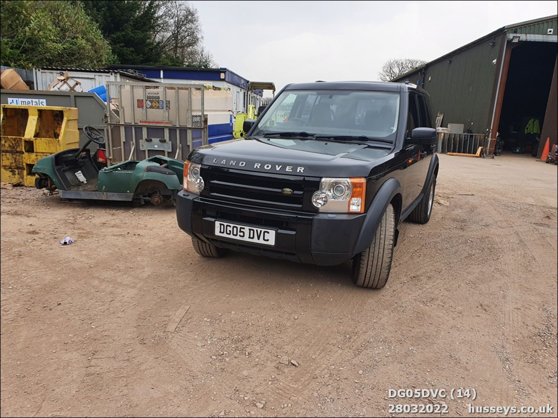
M 372 199 L 370 207 L 368 208 L 366 218 L 364 218 L 362 229 L 360 229 L 360 234 L 358 235 L 357 244 L 355 244 L 354 247 L 354 254 L 361 253 L 370 247 L 374 234 L 376 234 L 378 225 L 382 220 L 382 216 L 384 212 L 386 212 L 387 206 L 391 204 L 391 201 L 397 194 L 403 195 L 403 190 L 401 188 L 401 184 L 395 178 L 386 180 L 379 188 L 374 196 L 374 199 Z M 396 214 L 401 212 L 401 208 L 394 209 Z M 397 225 L 398 220 L 396 219 L 396 231 Z

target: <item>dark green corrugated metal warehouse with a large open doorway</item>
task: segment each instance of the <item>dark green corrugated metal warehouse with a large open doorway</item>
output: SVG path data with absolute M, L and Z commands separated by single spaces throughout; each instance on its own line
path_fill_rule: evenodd
M 393 81 L 429 92 L 442 126 L 478 134 L 488 127 L 504 150 L 532 148 L 540 156 L 547 137 L 558 141 L 557 26 L 556 15 L 504 26 Z

